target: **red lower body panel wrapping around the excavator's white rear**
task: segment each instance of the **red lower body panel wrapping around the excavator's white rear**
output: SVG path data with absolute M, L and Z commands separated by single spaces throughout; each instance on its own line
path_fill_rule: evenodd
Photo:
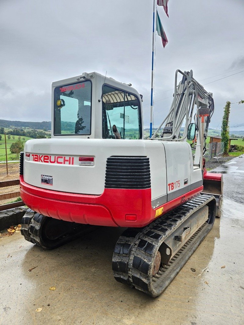
M 29 185 L 20 175 L 20 196 L 32 210 L 56 219 L 98 226 L 144 227 L 202 189 L 203 186 L 196 188 L 153 209 L 151 188 L 105 188 L 101 195 L 75 194 Z

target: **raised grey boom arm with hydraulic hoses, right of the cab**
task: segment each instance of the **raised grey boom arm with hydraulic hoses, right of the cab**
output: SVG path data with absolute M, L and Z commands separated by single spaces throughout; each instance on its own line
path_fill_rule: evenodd
M 182 74 L 182 80 L 177 85 L 178 72 Z M 206 138 L 210 118 L 214 111 L 214 101 L 212 93 L 207 92 L 194 78 L 192 70 L 190 72 L 175 72 L 175 91 L 174 99 L 170 106 L 170 110 L 166 118 L 157 128 L 151 139 L 183 141 L 187 137 L 187 128 L 193 118 L 197 126 L 197 145 L 194 165 L 202 168 L 202 157 L 206 151 Z M 184 133 L 181 137 L 180 131 L 185 121 Z M 160 138 L 156 138 L 156 134 L 163 126 Z

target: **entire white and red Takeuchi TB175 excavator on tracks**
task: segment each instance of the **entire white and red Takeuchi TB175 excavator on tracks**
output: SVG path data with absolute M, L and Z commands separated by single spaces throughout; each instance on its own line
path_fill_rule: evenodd
M 169 113 L 144 139 L 142 95 L 130 84 L 96 72 L 54 82 L 51 138 L 27 141 L 20 155 L 21 234 L 53 249 L 92 225 L 126 227 L 114 277 L 158 296 L 220 216 L 222 175 L 204 158 L 213 111 L 192 71 L 177 70 Z

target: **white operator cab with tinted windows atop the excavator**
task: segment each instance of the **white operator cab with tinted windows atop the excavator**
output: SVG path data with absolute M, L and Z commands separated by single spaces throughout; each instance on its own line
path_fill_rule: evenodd
M 52 137 L 142 139 L 142 100 L 99 73 L 52 84 Z

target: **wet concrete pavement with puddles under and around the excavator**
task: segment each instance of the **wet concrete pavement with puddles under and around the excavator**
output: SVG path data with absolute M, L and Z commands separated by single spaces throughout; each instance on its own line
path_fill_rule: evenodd
M 222 169 L 244 170 L 244 158 L 232 161 Z M 243 192 L 237 169 L 224 174 L 221 219 L 157 298 L 113 278 L 113 249 L 123 229 L 96 229 L 52 251 L 20 233 L 1 238 L 0 324 L 243 324 L 244 204 L 241 196 L 230 199 L 232 190 Z

